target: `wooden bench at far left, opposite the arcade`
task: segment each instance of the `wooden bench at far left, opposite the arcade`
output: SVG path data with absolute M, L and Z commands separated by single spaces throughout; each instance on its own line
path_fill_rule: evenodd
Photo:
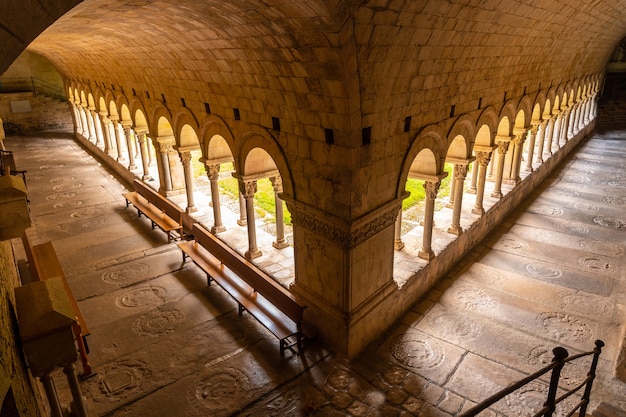
M 78 302 L 72 293 L 72 288 L 67 282 L 54 246 L 52 246 L 52 242 L 31 245 L 26 233 L 22 236 L 22 243 L 24 244 L 26 259 L 28 260 L 31 281 L 42 281 L 53 277 L 59 277 L 63 281 L 67 298 L 70 300 L 74 315 L 76 315 L 77 324 L 73 328 L 74 338 L 76 339 L 80 359 L 83 364 L 83 374 L 81 376 L 86 378 L 92 373 L 89 358 L 87 357 L 89 353 L 89 347 L 87 345 L 87 336 L 90 334 L 89 327 L 87 327 L 85 317 L 78 307 Z

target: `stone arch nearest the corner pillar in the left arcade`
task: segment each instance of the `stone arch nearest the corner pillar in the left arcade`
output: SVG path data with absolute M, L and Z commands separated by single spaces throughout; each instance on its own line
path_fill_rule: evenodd
M 283 154 L 282 148 L 276 140 L 268 132 L 264 131 L 248 131 L 241 136 L 240 140 L 241 145 L 237 154 L 234 155 L 233 163 L 236 174 L 246 177 L 253 175 L 254 173 L 258 173 L 260 172 L 259 170 L 263 170 L 270 166 L 267 161 L 263 162 L 256 159 L 250 159 L 263 155 L 258 151 L 253 152 L 255 148 L 260 148 L 267 153 L 267 155 L 269 155 L 275 169 L 277 169 L 280 173 L 283 181 L 283 193 L 292 199 L 296 199 L 291 169 L 289 168 L 287 159 Z

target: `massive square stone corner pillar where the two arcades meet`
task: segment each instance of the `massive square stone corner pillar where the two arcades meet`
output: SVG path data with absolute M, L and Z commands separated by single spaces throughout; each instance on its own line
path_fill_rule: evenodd
M 398 291 L 393 242 L 402 201 L 349 220 L 288 196 L 285 200 L 297 248 L 290 289 L 308 305 L 306 320 L 338 354 L 354 356 L 395 321 L 386 303 Z

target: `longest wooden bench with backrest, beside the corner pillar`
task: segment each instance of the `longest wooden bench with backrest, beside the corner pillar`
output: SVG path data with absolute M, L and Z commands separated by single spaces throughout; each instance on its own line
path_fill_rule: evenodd
M 302 351 L 302 316 L 306 306 L 265 272 L 195 223 L 194 240 L 178 243 L 183 262 L 191 258 L 206 274 L 208 284 L 217 282 L 239 305 L 239 315 L 248 311 L 272 332 L 285 349 Z

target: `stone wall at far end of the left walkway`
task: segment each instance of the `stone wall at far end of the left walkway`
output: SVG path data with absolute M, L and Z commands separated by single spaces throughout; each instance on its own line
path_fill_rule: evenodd
M 30 104 L 30 111 L 18 113 L 12 111 L 11 102 L 25 100 Z M 34 93 L 0 94 L 0 118 L 5 123 L 17 124 L 24 133 L 74 127 L 67 102 Z

